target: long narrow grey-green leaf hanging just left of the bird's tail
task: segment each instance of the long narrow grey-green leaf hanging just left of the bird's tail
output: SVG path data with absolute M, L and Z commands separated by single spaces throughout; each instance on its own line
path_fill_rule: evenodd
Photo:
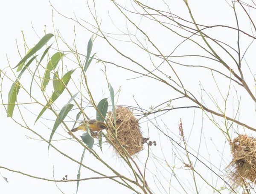
M 64 118 L 67 116 L 67 114 L 69 113 L 69 111 L 73 108 L 73 104 L 70 104 L 71 101 L 73 101 L 76 97 L 78 93 L 76 93 L 72 98 L 70 98 L 70 100 L 68 101 L 68 103 L 63 106 L 61 108 L 61 111 L 60 113 L 58 114 L 58 118 L 55 120 L 55 123 L 54 123 L 54 126 L 52 128 L 52 133 L 50 135 L 50 139 L 49 139 L 49 145 L 48 145 L 48 149 L 50 147 L 50 143 L 51 143 L 51 140 L 52 140 L 52 136 L 53 134 L 55 133 L 56 129 L 58 128 L 58 126 L 61 124 L 61 121 L 64 120 Z

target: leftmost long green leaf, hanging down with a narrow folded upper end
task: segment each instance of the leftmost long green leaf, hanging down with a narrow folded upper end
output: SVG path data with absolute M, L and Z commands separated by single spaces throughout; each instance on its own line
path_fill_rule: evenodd
M 35 57 L 33 57 L 32 59 L 29 60 L 29 62 L 26 64 L 26 66 L 24 66 L 24 68 L 18 75 L 17 80 L 12 84 L 12 87 L 8 94 L 7 117 L 12 117 L 12 114 L 13 114 L 15 103 L 17 100 L 17 94 L 20 89 L 20 82 L 18 80 L 20 79 L 20 77 L 24 73 L 24 71 L 28 68 L 28 66 L 32 63 L 32 61 L 35 59 Z

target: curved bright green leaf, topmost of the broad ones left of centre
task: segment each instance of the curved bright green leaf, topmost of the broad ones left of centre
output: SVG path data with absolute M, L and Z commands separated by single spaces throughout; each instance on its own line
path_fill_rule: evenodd
M 49 83 L 50 80 L 50 71 L 56 68 L 58 65 L 58 62 L 61 60 L 61 58 L 64 56 L 63 53 L 61 52 L 56 52 L 54 55 L 52 55 L 51 60 L 49 60 L 46 70 L 44 72 L 44 79 L 43 79 L 43 86 L 42 86 L 42 91 L 45 90 L 47 84 Z

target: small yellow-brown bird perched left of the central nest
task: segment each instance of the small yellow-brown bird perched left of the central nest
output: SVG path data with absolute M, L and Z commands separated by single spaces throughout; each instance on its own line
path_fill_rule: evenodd
M 78 130 L 86 131 L 86 125 L 92 130 L 92 131 L 100 131 L 102 129 L 106 129 L 107 125 L 101 121 L 98 120 L 87 120 L 84 122 L 84 124 L 71 129 L 72 132 L 76 132 Z

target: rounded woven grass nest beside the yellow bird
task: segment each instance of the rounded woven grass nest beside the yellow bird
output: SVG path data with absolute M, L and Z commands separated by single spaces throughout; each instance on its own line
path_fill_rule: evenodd
M 112 111 L 108 112 L 108 117 L 110 118 L 108 119 L 108 125 L 111 126 L 111 128 L 107 130 L 107 141 L 108 143 L 112 141 L 113 145 L 117 148 L 116 152 L 118 154 L 125 155 L 122 149 L 125 148 L 131 156 L 134 156 L 143 149 L 143 137 L 140 132 L 139 120 L 134 117 L 131 109 L 127 107 L 117 106 L 115 113 L 117 126 L 116 138 L 122 147 L 115 139 L 116 131 L 113 127 L 114 117 Z

